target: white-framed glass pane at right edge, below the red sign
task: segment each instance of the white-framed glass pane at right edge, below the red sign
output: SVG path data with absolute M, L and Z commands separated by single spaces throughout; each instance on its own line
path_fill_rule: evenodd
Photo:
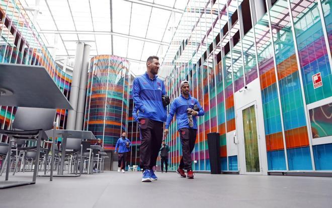
M 332 135 L 332 103 L 309 110 L 312 138 Z

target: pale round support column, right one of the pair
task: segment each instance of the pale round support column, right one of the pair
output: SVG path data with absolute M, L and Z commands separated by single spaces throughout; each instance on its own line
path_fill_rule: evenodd
M 80 75 L 79 90 L 78 90 L 75 130 L 82 130 L 83 127 L 84 111 L 85 111 L 86 95 L 87 95 L 90 48 L 91 48 L 90 45 L 87 44 L 84 45 L 81 75 Z

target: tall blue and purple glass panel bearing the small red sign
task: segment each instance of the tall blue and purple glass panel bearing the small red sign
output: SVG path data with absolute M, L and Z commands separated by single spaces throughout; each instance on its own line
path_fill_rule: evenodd
M 291 1 L 306 103 L 332 96 L 328 53 L 317 3 L 314 0 Z M 326 20 L 327 21 L 327 20 Z M 322 87 L 314 88 L 312 76 L 320 73 Z

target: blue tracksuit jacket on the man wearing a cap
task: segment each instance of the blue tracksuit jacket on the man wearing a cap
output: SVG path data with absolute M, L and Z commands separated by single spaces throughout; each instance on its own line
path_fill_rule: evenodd
M 204 110 L 196 98 L 193 98 L 189 95 L 189 98 L 186 99 L 182 95 L 180 95 L 179 97 L 174 99 L 170 108 L 169 116 L 167 117 L 165 128 L 168 129 L 170 127 L 170 123 L 175 113 L 177 116 L 178 130 L 180 128 L 190 128 L 187 116 L 187 109 L 193 108 L 195 104 L 199 108 L 197 116 L 204 115 Z M 194 126 L 192 128 L 194 129 L 197 129 L 197 116 L 193 116 Z

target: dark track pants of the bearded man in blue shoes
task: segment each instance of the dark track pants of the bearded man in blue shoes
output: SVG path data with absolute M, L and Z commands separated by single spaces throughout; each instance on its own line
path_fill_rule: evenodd
M 163 122 L 142 118 L 139 120 L 141 133 L 140 167 L 152 169 L 155 166 L 163 134 Z

